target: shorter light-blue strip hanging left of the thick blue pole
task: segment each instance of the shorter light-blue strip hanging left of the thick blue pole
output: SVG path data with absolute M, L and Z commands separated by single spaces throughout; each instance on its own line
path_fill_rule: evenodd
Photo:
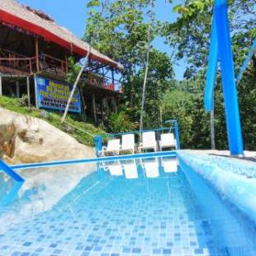
M 212 111 L 214 106 L 214 84 L 218 67 L 218 38 L 216 29 L 216 17 L 213 13 L 211 24 L 211 42 L 208 57 L 208 69 L 206 73 L 206 91 L 205 91 L 205 108 L 206 111 Z

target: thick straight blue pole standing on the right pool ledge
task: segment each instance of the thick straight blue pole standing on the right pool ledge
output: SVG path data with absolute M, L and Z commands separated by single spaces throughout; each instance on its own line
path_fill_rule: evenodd
M 230 154 L 244 154 L 226 0 L 216 0 L 214 12 Z

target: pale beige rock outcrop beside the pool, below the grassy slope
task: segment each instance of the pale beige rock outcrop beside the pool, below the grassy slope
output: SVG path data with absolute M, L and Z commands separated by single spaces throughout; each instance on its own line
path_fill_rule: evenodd
M 0 108 L 0 158 L 7 164 L 91 157 L 93 148 L 46 121 Z

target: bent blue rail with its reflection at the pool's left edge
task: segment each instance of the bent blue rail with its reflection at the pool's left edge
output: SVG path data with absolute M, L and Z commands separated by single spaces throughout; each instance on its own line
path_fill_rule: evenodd
M 19 192 L 25 180 L 21 178 L 20 175 L 15 173 L 13 169 L 10 168 L 7 164 L 2 162 L 2 160 L 0 160 L 0 171 L 6 173 L 10 178 L 15 181 L 11 191 L 7 192 L 7 195 L 0 199 L 0 206 L 7 206 L 17 197 L 17 193 Z

